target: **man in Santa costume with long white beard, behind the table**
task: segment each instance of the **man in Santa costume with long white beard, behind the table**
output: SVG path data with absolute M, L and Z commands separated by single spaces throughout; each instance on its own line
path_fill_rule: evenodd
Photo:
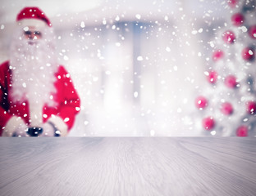
M 0 65 L 0 134 L 66 136 L 80 99 L 57 64 L 50 20 L 39 8 L 25 7 L 16 23 L 10 60 Z

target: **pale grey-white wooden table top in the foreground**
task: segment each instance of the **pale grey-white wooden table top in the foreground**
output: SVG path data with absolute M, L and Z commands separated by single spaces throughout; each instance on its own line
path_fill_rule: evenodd
M 255 138 L 0 138 L 0 195 L 256 195 Z

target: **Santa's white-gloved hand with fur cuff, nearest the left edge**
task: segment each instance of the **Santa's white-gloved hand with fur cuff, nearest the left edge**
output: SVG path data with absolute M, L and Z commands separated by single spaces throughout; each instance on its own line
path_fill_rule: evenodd
M 28 127 L 21 117 L 13 116 L 11 117 L 6 126 L 2 131 L 2 136 L 29 136 L 27 134 Z

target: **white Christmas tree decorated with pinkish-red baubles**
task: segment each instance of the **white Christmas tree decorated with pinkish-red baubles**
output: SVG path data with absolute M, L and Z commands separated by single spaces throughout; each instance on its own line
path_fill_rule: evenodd
M 218 31 L 195 98 L 197 129 L 209 136 L 256 136 L 256 9 L 254 0 L 228 0 L 230 19 Z

